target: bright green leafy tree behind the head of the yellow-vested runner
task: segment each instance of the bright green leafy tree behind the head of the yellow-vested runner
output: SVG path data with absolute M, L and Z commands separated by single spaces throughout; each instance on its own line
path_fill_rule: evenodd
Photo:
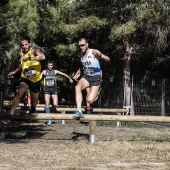
M 4 0 L 0 2 L 0 14 L 0 56 L 7 60 L 5 69 L 7 74 L 19 63 L 20 38 L 23 35 L 35 38 L 39 31 L 37 30 L 39 23 L 37 2 Z

